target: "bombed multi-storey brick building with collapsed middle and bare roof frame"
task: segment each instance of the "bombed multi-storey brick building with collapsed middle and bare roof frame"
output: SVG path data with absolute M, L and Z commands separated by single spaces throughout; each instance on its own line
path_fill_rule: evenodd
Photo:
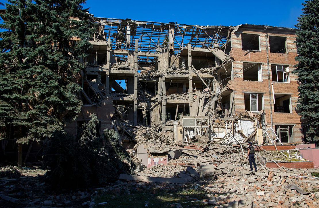
M 236 140 L 253 131 L 259 143 L 274 133 L 276 142 L 302 141 L 296 29 L 90 18 L 97 28 L 80 60 L 87 63 L 79 78 L 83 107 L 67 132 L 76 134 L 95 114 L 98 132 L 122 129 L 122 141 L 134 138 L 121 121 L 172 130 L 171 139 L 186 144 L 196 135 Z

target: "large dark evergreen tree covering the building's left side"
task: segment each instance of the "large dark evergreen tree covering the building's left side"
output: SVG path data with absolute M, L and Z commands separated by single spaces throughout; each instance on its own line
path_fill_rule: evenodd
M 93 23 L 85 0 L 9 0 L 0 28 L 0 139 L 51 138 L 75 119 Z

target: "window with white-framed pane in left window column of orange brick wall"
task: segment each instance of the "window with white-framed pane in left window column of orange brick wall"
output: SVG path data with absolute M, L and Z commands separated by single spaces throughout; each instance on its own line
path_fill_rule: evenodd
M 263 110 L 263 94 L 244 93 L 245 110 L 259 112 Z

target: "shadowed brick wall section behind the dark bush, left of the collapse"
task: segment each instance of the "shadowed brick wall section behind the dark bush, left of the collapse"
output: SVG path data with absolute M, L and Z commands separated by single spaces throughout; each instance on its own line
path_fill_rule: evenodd
M 112 128 L 111 118 L 114 113 L 113 97 L 104 97 L 100 106 L 83 105 L 82 111 L 79 113 L 77 120 L 64 125 L 64 130 L 71 134 L 76 135 L 77 121 L 88 121 L 90 115 L 95 114 L 101 122 L 100 133 L 106 128 Z

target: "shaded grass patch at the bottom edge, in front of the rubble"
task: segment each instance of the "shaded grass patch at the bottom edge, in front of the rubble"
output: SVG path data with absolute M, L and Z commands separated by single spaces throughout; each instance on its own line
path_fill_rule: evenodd
M 164 188 L 164 189 L 163 189 Z M 189 198 L 186 198 L 189 196 Z M 198 202 L 191 202 L 190 198 L 197 198 Z M 183 207 L 211 207 L 211 204 L 205 205 L 202 199 L 208 198 L 206 192 L 196 185 L 188 185 L 179 189 L 165 189 L 165 187 L 151 187 L 151 188 L 132 188 L 121 191 L 120 194 L 103 193 L 96 199 L 95 207 L 145 207 L 145 201 L 148 201 L 148 207 L 163 208 L 171 207 L 170 204 L 181 203 Z M 98 205 L 100 202 L 107 202 L 106 205 Z

